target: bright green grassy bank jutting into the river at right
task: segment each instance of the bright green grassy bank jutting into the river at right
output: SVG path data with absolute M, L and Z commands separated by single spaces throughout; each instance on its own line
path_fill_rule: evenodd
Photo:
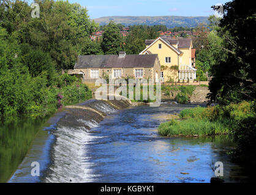
M 206 136 L 229 133 L 233 140 L 240 144 L 246 141 L 243 137 L 248 140 L 250 136 L 255 137 L 255 102 L 208 108 L 195 107 L 181 111 L 179 117 L 181 121 L 173 120 L 160 124 L 160 135 Z M 242 133 L 245 129 L 249 135 Z

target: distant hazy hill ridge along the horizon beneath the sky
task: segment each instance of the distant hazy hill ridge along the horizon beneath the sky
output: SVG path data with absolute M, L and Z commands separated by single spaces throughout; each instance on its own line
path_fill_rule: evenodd
M 149 26 L 164 24 L 168 28 L 175 26 L 196 27 L 198 23 L 208 23 L 208 17 L 206 16 L 107 16 L 94 19 L 100 25 L 108 24 L 111 20 L 116 24 L 124 24 L 125 26 L 134 24 L 146 24 Z

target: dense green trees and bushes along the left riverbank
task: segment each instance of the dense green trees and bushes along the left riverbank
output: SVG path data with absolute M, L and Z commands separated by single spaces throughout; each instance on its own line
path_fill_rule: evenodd
M 58 94 L 63 105 L 91 97 L 86 85 L 59 70 L 73 66 L 97 25 L 78 4 L 36 2 L 40 18 L 23 1 L 0 5 L 0 121 L 50 115 Z

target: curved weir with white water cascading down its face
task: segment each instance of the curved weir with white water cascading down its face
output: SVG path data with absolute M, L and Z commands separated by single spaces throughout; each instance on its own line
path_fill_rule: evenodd
M 43 172 L 42 182 L 93 182 L 92 163 L 86 153 L 99 137 L 92 136 L 90 129 L 96 127 L 105 116 L 130 106 L 129 101 L 89 100 L 78 105 L 67 106 L 56 129 L 50 158 L 53 163 Z

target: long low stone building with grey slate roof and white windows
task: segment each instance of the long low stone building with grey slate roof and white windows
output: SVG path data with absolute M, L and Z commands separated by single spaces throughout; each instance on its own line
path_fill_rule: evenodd
M 84 81 L 94 82 L 108 75 L 111 79 L 145 78 L 159 80 L 160 63 L 157 54 L 151 55 L 79 55 L 69 74 L 80 74 Z

